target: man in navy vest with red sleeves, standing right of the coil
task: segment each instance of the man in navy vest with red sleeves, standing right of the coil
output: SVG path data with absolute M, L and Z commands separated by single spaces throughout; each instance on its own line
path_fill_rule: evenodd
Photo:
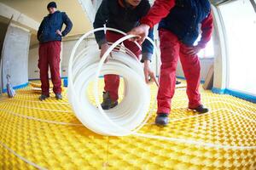
M 129 33 L 140 36 L 137 41 L 143 42 L 148 35 L 148 29 L 159 22 L 162 64 L 155 123 L 166 125 L 175 90 L 178 56 L 187 81 L 189 109 L 198 113 L 208 111 L 201 105 L 199 92 L 201 66 L 197 53 L 206 47 L 212 35 L 211 4 L 208 0 L 156 0 L 147 16 L 141 20 L 142 25 Z M 201 40 L 194 45 L 199 36 L 199 24 L 202 31 Z

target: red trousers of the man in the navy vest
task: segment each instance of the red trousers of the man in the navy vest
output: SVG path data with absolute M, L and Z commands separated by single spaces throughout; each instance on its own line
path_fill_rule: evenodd
M 201 105 L 200 85 L 200 61 L 198 56 L 188 55 L 188 46 L 177 39 L 171 31 L 160 29 L 160 88 L 157 95 L 158 113 L 170 113 L 171 99 L 175 91 L 176 67 L 178 56 L 180 58 L 184 76 L 187 81 L 187 95 L 189 108 Z

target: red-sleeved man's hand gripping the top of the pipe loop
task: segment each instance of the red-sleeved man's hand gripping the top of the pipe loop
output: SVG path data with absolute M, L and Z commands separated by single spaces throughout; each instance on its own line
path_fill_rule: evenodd
M 148 37 L 149 28 L 150 27 L 148 25 L 142 24 L 140 26 L 133 28 L 127 34 L 138 36 L 138 37 L 131 39 L 131 41 L 137 41 L 139 44 L 142 44 L 144 42 L 145 38 Z

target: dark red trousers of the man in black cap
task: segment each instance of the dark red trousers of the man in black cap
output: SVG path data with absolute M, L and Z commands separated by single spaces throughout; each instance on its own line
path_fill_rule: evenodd
M 60 53 L 61 42 L 59 41 L 45 42 L 39 45 L 38 68 L 40 69 L 42 94 L 49 95 L 48 68 L 54 85 L 53 91 L 55 94 L 61 94 Z

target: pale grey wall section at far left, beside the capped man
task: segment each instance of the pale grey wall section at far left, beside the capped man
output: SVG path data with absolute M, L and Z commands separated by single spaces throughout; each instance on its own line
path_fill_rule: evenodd
M 9 26 L 3 43 L 4 86 L 7 83 L 7 74 L 10 75 L 14 87 L 28 82 L 27 60 L 30 36 L 29 31 L 25 29 L 14 25 Z

